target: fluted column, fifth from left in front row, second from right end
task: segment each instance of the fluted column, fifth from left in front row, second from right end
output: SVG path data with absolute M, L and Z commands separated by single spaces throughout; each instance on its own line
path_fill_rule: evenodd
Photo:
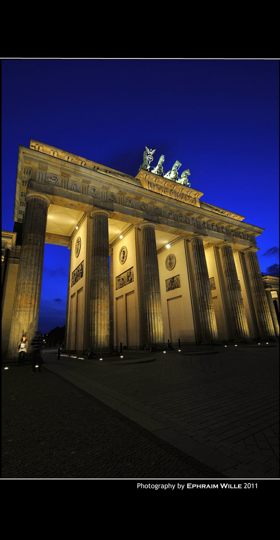
M 231 314 L 233 315 L 236 339 L 240 341 L 250 339 L 248 322 L 236 272 L 233 248 L 229 242 L 221 246 L 224 276 L 230 301 Z

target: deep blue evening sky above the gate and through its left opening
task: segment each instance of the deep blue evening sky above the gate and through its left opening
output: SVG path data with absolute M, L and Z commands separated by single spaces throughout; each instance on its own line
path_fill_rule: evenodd
M 278 80 L 278 59 L 2 59 L 2 229 L 31 138 L 133 176 L 148 146 L 166 171 L 189 168 L 201 200 L 264 228 L 261 271 L 279 275 Z M 41 332 L 65 323 L 69 254 L 45 246 Z

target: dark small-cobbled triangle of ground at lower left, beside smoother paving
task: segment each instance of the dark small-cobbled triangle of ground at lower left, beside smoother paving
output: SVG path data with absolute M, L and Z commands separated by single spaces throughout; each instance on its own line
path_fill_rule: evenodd
M 2 478 L 222 478 L 44 369 L 2 368 Z

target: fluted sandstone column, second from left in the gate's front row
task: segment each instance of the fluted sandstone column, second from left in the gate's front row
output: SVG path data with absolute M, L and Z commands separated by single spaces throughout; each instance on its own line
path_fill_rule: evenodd
M 110 281 L 109 232 L 110 212 L 93 210 L 92 265 L 90 289 L 90 343 L 89 349 L 110 350 Z

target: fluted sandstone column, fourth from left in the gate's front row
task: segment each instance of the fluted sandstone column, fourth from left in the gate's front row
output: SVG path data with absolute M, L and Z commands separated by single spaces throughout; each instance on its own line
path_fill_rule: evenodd
M 199 302 L 203 343 L 218 340 L 217 323 L 211 294 L 203 237 L 195 235 L 192 243 L 197 300 Z

